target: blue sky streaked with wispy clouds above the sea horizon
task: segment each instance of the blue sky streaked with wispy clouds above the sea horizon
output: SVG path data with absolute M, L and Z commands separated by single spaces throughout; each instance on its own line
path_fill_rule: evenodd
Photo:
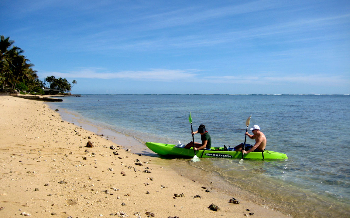
M 80 94 L 350 94 L 350 1 L 2 0 L 0 35 Z

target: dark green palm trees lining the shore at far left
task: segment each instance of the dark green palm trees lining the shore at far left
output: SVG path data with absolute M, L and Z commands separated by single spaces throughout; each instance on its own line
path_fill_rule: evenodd
M 47 84 L 39 80 L 37 71 L 33 69 L 34 64 L 23 55 L 24 51 L 13 44 L 14 41 L 10 40 L 10 37 L 0 36 L 0 89 L 12 88 L 44 94 Z M 68 93 L 72 88 L 62 77 L 48 76 L 45 82 L 49 84 L 47 87 L 50 87 L 51 92 L 58 90 L 59 93 Z M 74 80 L 72 84 L 77 84 L 77 81 Z

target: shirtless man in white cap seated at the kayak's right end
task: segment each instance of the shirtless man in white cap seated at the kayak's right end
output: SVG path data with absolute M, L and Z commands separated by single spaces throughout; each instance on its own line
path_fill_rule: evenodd
M 253 128 L 250 128 L 250 130 L 252 130 L 253 135 L 250 135 L 248 132 L 246 132 L 245 134 L 249 138 L 255 139 L 255 144 L 250 145 L 250 144 L 246 143 L 245 149 L 244 149 L 244 151 L 242 151 L 244 143 L 241 143 L 234 148 L 236 151 L 242 151 L 243 153 L 247 154 L 247 153 L 254 151 L 255 149 L 262 150 L 262 151 L 265 149 L 266 137 L 265 137 L 264 133 L 262 133 L 260 131 L 260 127 L 258 125 L 254 125 Z

